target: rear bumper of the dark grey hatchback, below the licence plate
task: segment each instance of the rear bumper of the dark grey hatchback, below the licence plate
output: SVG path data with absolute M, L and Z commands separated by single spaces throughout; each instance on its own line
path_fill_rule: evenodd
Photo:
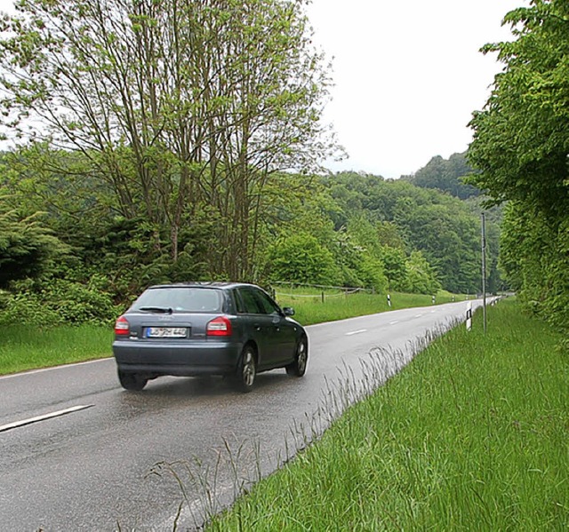
M 192 344 L 146 340 L 115 340 L 118 369 L 153 375 L 227 375 L 236 370 L 242 345 L 228 342 Z

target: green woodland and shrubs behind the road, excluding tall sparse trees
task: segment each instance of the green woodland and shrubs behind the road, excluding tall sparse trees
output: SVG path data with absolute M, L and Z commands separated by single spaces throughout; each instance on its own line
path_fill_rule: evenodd
M 0 166 L 4 322 L 107 322 L 149 284 L 231 278 L 218 237 L 228 228 L 212 205 L 188 206 L 193 216 L 172 258 L 167 227 L 152 226 L 142 214 L 125 217 L 112 207 L 112 190 L 81 172 L 45 164 L 41 176 L 28 173 L 34 156 L 5 153 Z M 43 156 L 48 161 L 68 153 Z M 76 158 L 74 171 L 79 167 Z M 259 203 L 254 246 L 243 258 L 252 269 L 240 280 L 379 293 L 480 291 L 477 202 L 343 172 L 276 173 Z M 498 223 L 490 222 L 491 290 L 501 288 L 498 237 Z

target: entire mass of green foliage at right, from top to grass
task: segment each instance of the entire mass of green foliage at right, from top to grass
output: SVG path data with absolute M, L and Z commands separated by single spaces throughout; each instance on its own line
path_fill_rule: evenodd
M 493 202 L 514 202 L 502 264 L 528 305 L 567 327 L 569 5 L 534 0 L 504 23 L 516 39 L 483 49 L 505 67 L 471 122 L 469 161 L 480 170 L 472 182 Z

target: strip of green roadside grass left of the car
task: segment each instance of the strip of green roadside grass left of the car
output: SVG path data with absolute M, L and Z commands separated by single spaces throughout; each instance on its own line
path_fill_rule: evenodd
M 48 329 L 4 325 L 0 375 L 110 356 L 112 338 L 112 329 L 92 325 Z

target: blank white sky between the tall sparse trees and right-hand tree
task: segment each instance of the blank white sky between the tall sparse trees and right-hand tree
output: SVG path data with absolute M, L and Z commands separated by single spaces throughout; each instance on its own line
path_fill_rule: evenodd
M 314 42 L 333 60 L 325 122 L 349 155 L 327 166 L 399 178 L 464 151 L 501 68 L 478 51 L 509 39 L 501 20 L 527 2 L 312 0 Z M 0 0 L 0 11 L 12 4 Z

